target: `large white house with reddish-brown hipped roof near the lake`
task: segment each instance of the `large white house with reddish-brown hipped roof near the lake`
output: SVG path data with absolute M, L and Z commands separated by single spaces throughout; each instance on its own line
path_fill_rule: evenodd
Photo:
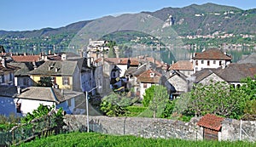
M 218 48 L 210 48 L 202 53 L 196 53 L 192 58 L 194 72 L 202 69 L 216 69 L 218 67 L 230 65 L 231 56 L 224 54 Z

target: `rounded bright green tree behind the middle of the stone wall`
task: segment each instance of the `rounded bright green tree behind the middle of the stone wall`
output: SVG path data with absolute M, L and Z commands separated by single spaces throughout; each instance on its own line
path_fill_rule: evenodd
M 162 85 L 151 86 L 146 89 L 143 96 L 143 105 L 148 106 L 149 113 L 153 112 L 153 117 L 159 117 L 166 108 L 168 102 L 167 89 Z

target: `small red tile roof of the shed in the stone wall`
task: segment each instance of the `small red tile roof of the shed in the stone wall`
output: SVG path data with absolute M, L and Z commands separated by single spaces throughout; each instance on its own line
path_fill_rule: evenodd
M 219 131 L 221 128 L 221 122 L 223 121 L 223 117 L 207 114 L 201 117 L 200 121 L 197 122 L 197 125 L 201 127 L 207 127 L 215 131 Z

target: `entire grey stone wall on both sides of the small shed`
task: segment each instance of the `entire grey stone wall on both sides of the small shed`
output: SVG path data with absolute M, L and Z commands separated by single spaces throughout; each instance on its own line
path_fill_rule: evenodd
M 90 116 L 90 131 L 115 135 L 135 135 L 144 138 L 203 139 L 203 128 L 196 123 L 200 118 L 190 122 L 180 122 L 160 118 L 145 117 L 108 117 Z M 67 115 L 64 121 L 70 132 L 87 130 L 87 117 L 84 115 Z M 242 121 L 242 140 L 256 141 L 256 122 Z M 246 134 L 247 133 L 247 134 Z M 240 121 L 225 119 L 222 122 L 218 140 L 235 141 L 240 139 Z

